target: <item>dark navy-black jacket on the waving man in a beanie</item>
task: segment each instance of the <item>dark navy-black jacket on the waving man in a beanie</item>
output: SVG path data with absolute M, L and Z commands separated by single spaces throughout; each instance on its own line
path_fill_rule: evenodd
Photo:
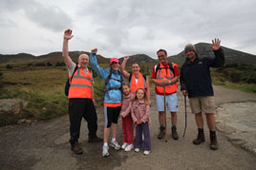
M 197 57 L 193 63 L 186 58 L 181 66 L 181 90 L 187 90 L 189 98 L 214 95 L 209 67 L 224 65 L 223 49 L 215 50 L 214 55 L 214 58 Z

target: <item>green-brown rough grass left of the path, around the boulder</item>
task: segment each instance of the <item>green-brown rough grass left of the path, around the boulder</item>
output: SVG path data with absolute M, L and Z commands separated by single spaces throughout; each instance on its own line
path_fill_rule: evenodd
M 66 67 L 45 69 L 2 70 L 0 99 L 23 99 L 28 102 L 23 115 L 1 115 L 0 126 L 17 123 L 18 119 L 49 120 L 68 113 L 68 97 L 64 86 L 68 78 Z M 103 81 L 95 79 L 96 104 L 103 103 Z

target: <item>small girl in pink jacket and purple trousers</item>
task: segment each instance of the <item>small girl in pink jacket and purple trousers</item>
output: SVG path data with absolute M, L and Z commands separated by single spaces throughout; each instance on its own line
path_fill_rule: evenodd
M 151 151 L 151 141 L 149 134 L 148 122 L 150 122 L 149 117 L 150 104 L 143 88 L 138 88 L 136 91 L 136 97 L 132 101 L 132 118 L 134 123 L 136 123 L 136 142 L 135 151 L 139 152 L 142 146 L 142 135 L 144 135 L 144 155 L 149 155 Z

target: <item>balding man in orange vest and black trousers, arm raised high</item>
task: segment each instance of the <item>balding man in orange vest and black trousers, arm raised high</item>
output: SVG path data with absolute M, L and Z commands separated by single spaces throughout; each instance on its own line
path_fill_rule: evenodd
M 82 117 L 88 123 L 88 142 L 101 142 L 102 139 L 96 136 L 97 116 L 96 102 L 94 100 L 93 74 L 87 68 L 89 65 L 89 56 L 87 54 L 80 54 L 77 69 L 75 69 L 76 64 L 70 58 L 68 49 L 69 40 L 72 38 L 72 30 L 65 30 L 62 57 L 68 68 L 69 77 L 71 78 L 73 75 L 68 95 L 71 149 L 75 154 L 80 155 L 83 153 L 78 143 Z

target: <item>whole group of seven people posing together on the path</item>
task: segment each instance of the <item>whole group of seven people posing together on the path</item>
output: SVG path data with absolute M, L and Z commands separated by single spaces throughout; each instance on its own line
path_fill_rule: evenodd
M 79 131 L 82 117 L 88 123 L 88 142 L 102 142 L 102 156 L 109 156 L 109 146 L 115 149 L 136 152 L 144 149 L 143 154 L 149 155 L 151 152 L 151 138 L 149 123 L 150 113 L 150 85 L 148 77 L 140 73 L 139 63 L 132 65 L 132 73 L 125 70 L 129 56 L 125 56 L 120 66 L 117 58 L 110 60 L 109 68 L 98 66 L 96 60 L 97 48 L 92 49 L 90 56 L 80 54 L 78 65 L 69 56 L 68 42 L 73 38 L 72 30 L 64 32 L 63 59 L 68 67 L 70 77 L 69 117 L 70 117 L 70 143 L 75 154 L 82 154 L 83 150 L 79 146 Z M 212 50 L 215 57 L 200 58 L 196 47 L 188 44 L 184 47 L 185 61 L 181 66 L 181 72 L 177 64 L 167 61 L 167 52 L 164 49 L 157 51 L 159 64 L 152 69 L 151 79 L 155 84 L 156 104 L 159 111 L 160 133 L 158 139 L 166 135 L 165 106 L 171 113 L 172 138 L 179 140 L 177 133 L 177 112 L 179 111 L 177 97 L 177 83 L 181 82 L 181 92 L 188 96 L 191 111 L 195 114 L 198 126 L 198 137 L 193 141 L 200 144 L 205 141 L 203 133 L 203 113 L 210 133 L 210 148 L 218 149 L 218 142 L 215 128 L 215 105 L 213 100 L 213 87 L 210 77 L 211 66 L 224 65 L 224 52 L 220 47 L 219 39 L 212 40 Z M 103 140 L 96 136 L 97 116 L 96 102 L 94 100 L 93 73 L 88 69 L 91 64 L 96 73 L 104 80 L 104 135 Z M 77 68 L 77 69 L 76 69 Z M 126 82 L 126 80 L 129 80 Z M 165 103 L 164 103 L 165 102 Z M 117 142 L 117 121 L 122 119 L 123 143 Z M 136 137 L 134 142 L 134 127 Z M 110 131 L 112 131 L 111 141 L 108 142 Z

